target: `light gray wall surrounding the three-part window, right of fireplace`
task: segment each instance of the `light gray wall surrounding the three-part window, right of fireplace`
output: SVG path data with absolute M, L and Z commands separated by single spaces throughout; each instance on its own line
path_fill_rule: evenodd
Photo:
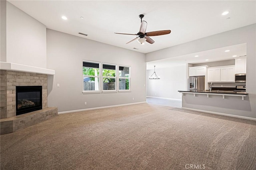
M 130 66 L 132 92 L 83 94 L 83 60 Z M 143 53 L 47 29 L 47 67 L 55 70 L 48 76 L 48 107 L 59 112 L 146 101 Z

